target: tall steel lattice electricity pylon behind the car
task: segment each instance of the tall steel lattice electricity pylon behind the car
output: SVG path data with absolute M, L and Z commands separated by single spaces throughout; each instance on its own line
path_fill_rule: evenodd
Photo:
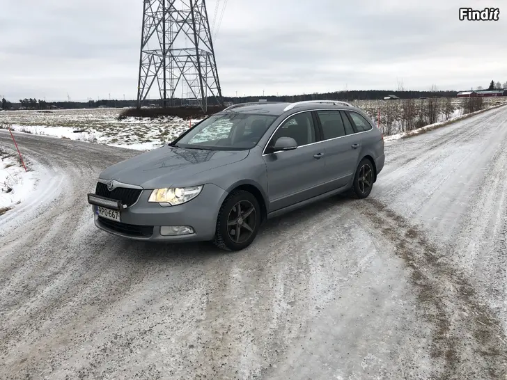
M 138 108 L 153 88 L 164 106 L 179 105 L 180 94 L 180 104 L 198 105 L 204 112 L 208 103 L 221 105 L 205 0 L 143 1 Z

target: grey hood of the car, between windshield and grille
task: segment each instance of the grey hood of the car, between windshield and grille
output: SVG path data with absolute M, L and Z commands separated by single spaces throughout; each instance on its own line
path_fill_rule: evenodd
M 241 161 L 248 154 L 249 150 L 201 150 L 164 145 L 109 166 L 100 173 L 100 178 L 137 184 L 143 189 L 191 186 L 200 184 L 196 178 L 199 173 Z

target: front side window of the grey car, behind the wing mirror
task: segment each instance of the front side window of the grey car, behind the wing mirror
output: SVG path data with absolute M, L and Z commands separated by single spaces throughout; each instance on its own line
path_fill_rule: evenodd
M 315 127 L 311 112 L 297 113 L 291 116 L 276 130 L 268 146 L 273 147 L 280 137 L 294 138 L 297 146 L 315 143 Z

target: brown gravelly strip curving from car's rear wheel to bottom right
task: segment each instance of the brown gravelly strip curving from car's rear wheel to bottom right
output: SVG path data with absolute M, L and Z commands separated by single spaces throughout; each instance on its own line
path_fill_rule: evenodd
M 507 345 L 501 322 L 455 270 L 448 252 L 377 200 L 357 207 L 380 236 L 396 244 L 396 255 L 412 269 L 419 312 L 434 326 L 432 358 L 442 365 L 435 366 L 432 379 L 505 379 Z

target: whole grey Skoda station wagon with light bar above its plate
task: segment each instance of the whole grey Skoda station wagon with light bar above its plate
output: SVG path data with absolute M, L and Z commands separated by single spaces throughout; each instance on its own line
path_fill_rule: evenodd
M 380 130 L 348 103 L 235 104 L 102 171 L 88 203 L 114 235 L 239 251 L 273 216 L 345 191 L 366 198 L 383 166 Z

